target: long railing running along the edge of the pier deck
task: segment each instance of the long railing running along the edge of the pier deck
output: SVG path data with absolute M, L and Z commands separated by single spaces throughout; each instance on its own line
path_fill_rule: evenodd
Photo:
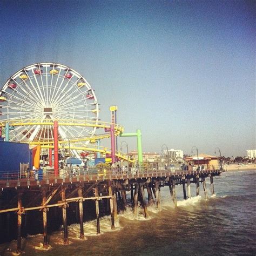
M 97 181 L 105 179 L 131 179 L 146 177 L 162 177 L 187 175 L 197 173 L 223 172 L 219 165 L 211 165 L 210 169 L 200 168 L 194 170 L 184 170 L 184 168 L 176 167 L 170 169 L 155 169 L 145 167 L 126 168 L 97 168 L 87 167 L 85 169 L 59 169 L 58 175 L 55 175 L 53 169 L 39 169 L 29 171 L 8 171 L 0 173 L 0 185 L 2 187 L 24 186 L 32 184 L 49 184 L 49 183 L 69 183 L 76 181 Z

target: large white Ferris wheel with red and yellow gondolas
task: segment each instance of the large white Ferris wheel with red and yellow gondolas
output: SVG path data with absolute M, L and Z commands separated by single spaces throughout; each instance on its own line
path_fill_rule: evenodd
M 0 90 L 0 121 L 23 123 L 10 130 L 10 141 L 47 143 L 53 140 L 54 120 L 97 124 L 98 118 L 95 91 L 82 75 L 62 64 L 26 66 Z M 65 125 L 58 131 L 62 139 L 90 137 L 96 126 Z

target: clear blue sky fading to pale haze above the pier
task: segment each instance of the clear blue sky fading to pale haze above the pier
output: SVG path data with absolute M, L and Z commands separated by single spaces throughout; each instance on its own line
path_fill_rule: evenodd
M 142 130 L 143 151 L 256 148 L 254 1 L 2 0 L 0 21 L 0 86 L 58 62 L 95 89 L 100 119 L 117 105 L 125 131 Z

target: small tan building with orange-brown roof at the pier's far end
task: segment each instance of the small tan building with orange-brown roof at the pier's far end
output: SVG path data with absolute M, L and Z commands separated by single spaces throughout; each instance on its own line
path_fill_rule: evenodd
M 200 169 L 203 168 L 205 170 L 215 170 L 219 168 L 218 157 L 210 156 L 210 154 L 198 154 L 198 156 L 186 157 L 185 160 L 194 166 L 194 169 L 198 166 L 201 166 Z

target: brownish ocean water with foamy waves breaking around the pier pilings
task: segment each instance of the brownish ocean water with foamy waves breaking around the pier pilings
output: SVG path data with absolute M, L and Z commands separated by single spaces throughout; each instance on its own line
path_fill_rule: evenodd
M 183 199 L 182 186 L 176 186 L 178 207 L 174 208 L 169 187 L 161 188 L 161 211 L 148 208 L 134 216 L 130 208 L 118 215 L 116 230 L 111 218 L 84 223 L 86 240 L 79 239 L 79 224 L 69 226 L 69 245 L 63 245 L 62 230 L 49 234 L 49 250 L 43 248 L 43 235 L 22 239 L 24 255 L 256 255 L 256 171 L 230 171 L 214 177 L 215 195 L 208 198 L 203 185 L 196 197 Z M 129 197 L 129 194 L 127 195 Z M 0 231 L 1 232 L 1 231 Z M 0 245 L 0 255 L 14 255 L 17 241 Z

